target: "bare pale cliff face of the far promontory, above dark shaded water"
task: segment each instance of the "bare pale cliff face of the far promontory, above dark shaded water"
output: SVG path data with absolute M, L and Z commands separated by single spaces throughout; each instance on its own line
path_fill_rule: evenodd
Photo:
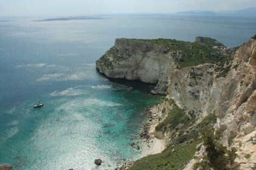
M 96 67 L 110 78 L 158 83 L 158 92 L 166 92 L 169 70 L 176 66 L 163 46 L 137 39 L 116 39 L 115 46 L 96 61 Z

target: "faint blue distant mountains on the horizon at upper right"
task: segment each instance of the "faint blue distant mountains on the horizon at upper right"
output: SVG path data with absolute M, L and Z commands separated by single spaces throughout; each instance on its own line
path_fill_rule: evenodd
M 187 12 L 177 12 L 176 15 L 231 15 L 231 16 L 256 16 L 256 7 L 243 9 L 243 10 L 222 10 L 222 11 L 209 11 L 209 10 L 194 10 Z

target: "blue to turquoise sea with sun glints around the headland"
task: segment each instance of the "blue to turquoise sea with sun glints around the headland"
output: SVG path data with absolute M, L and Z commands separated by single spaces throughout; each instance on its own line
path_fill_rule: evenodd
M 0 163 L 23 170 L 115 169 L 143 157 L 144 110 L 162 98 L 147 84 L 130 90 L 97 72 L 95 61 L 115 38 L 209 36 L 235 47 L 255 33 L 256 17 L 0 16 Z M 39 100 L 44 106 L 34 108 Z

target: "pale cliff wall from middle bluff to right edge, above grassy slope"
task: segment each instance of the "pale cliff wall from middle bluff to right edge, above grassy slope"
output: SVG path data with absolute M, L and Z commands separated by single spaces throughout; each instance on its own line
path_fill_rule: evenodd
M 215 129 L 222 134 L 222 144 L 238 148 L 238 158 L 232 167 L 236 169 L 255 166 L 255 56 L 256 41 L 251 39 L 236 52 L 233 63 L 224 66 L 230 67 L 226 77 L 219 77 L 221 72 L 213 64 L 175 69 L 169 74 L 169 98 L 187 112 L 193 111 L 199 121 L 208 114 L 217 116 Z M 245 155 L 251 158 L 248 160 Z

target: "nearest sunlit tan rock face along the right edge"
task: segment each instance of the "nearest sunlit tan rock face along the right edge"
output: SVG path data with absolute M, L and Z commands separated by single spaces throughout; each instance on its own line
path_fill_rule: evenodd
M 216 129 L 223 132 L 222 143 L 233 142 L 240 148 L 236 165 L 240 169 L 255 168 L 256 160 L 256 40 L 240 47 L 222 86 L 215 107 Z M 250 155 L 251 158 L 244 158 Z

